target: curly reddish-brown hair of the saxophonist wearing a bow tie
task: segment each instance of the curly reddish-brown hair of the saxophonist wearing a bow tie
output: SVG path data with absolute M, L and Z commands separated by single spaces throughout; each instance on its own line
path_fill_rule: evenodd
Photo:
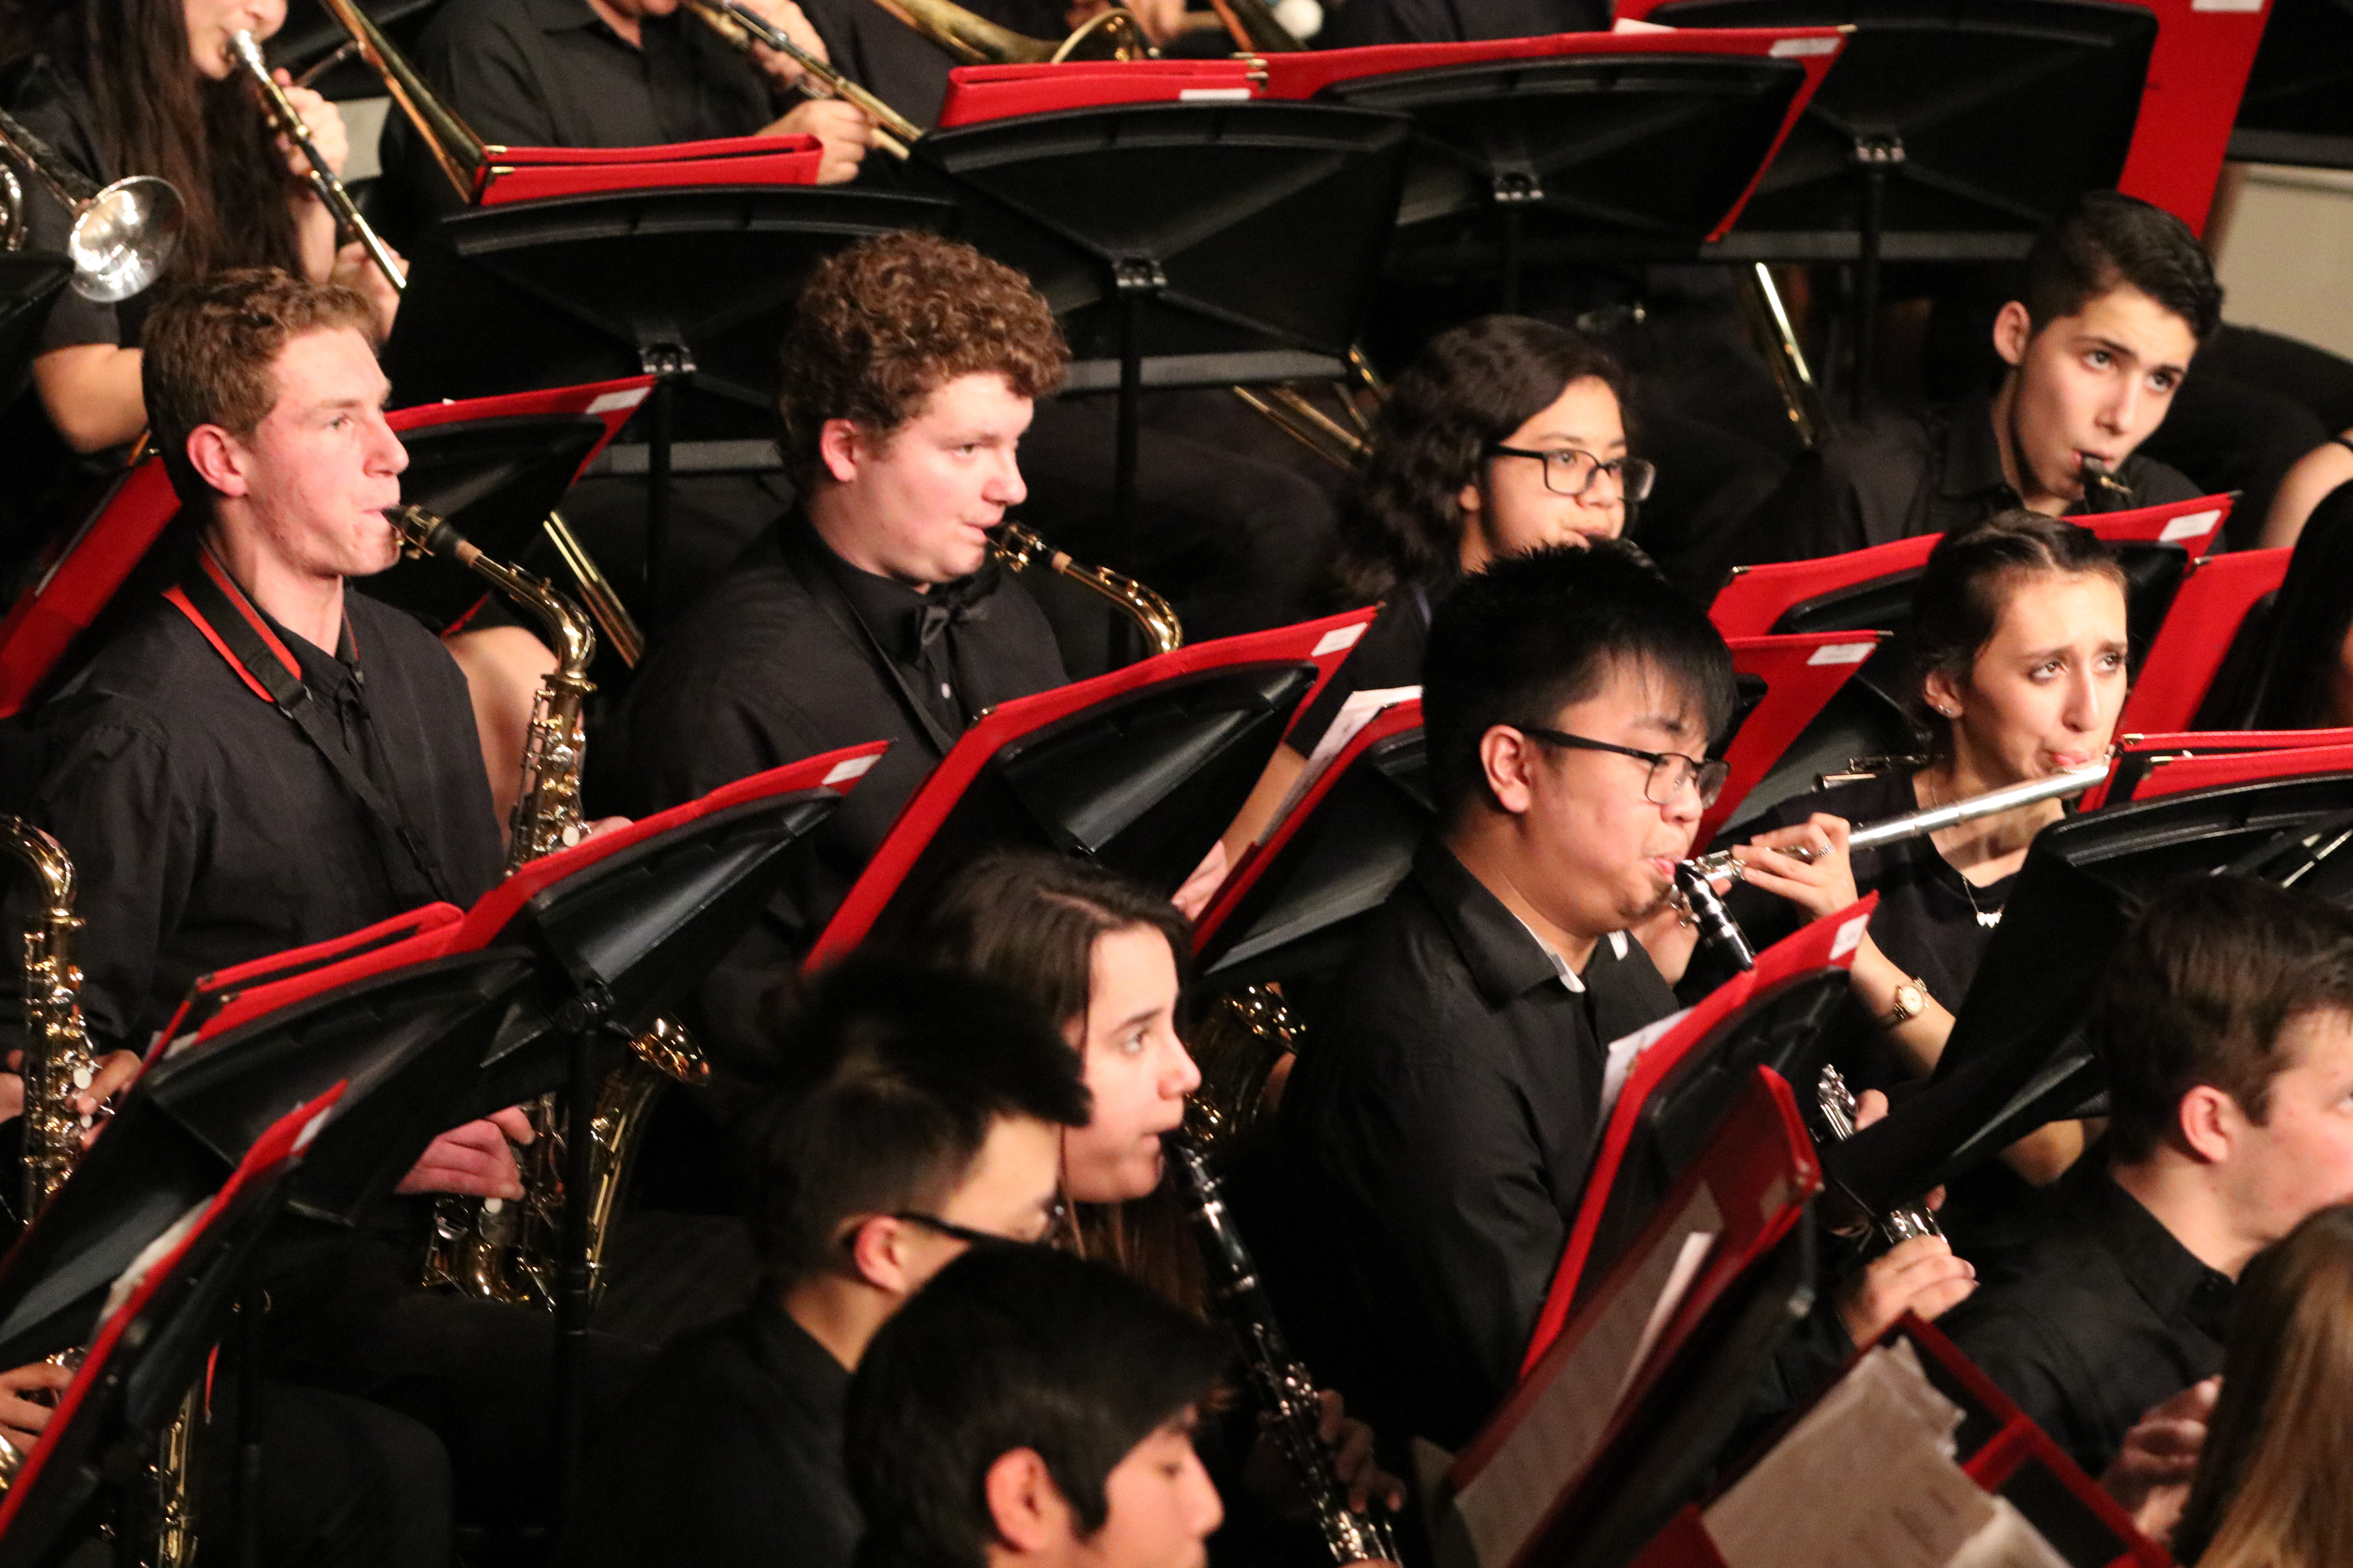
M 1068 364 L 1054 310 L 1014 268 L 915 230 L 861 240 L 816 266 L 784 334 L 786 477 L 809 494 L 828 418 L 889 435 L 958 376 L 1000 371 L 1021 397 L 1052 397 Z

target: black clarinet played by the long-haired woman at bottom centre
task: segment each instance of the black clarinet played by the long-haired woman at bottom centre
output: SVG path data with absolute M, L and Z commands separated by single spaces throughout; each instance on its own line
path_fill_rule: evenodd
M 1322 1403 L 1315 1399 L 1315 1380 L 1292 1354 L 1282 1326 L 1275 1324 L 1266 1286 L 1259 1284 L 1259 1265 L 1226 1215 L 1226 1197 L 1219 1192 L 1217 1178 L 1209 1175 L 1209 1161 L 1200 1150 L 1174 1138 L 1169 1157 L 1184 1175 L 1193 1225 L 1200 1232 L 1202 1260 L 1209 1267 L 1209 1295 L 1242 1349 L 1249 1385 L 1273 1415 L 1268 1429 L 1282 1446 L 1282 1458 L 1299 1474 L 1299 1486 L 1315 1509 L 1315 1528 L 1322 1530 L 1332 1561 L 1402 1563 L 1388 1523 L 1348 1507 L 1348 1490 L 1339 1483 L 1332 1450 L 1322 1441 Z

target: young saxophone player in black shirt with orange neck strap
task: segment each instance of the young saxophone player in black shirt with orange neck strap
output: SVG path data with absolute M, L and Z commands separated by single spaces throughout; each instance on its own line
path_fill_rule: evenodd
M 0 745 L 12 806 L 80 872 L 101 1048 L 144 1048 L 202 973 L 468 905 L 504 875 L 456 663 L 348 592 L 398 559 L 384 512 L 407 468 L 372 331 L 351 289 L 259 268 L 148 317 L 184 562 Z M 518 1112 L 445 1133 L 400 1192 L 522 1197 L 508 1135 L 529 1138 Z M 398 1208 L 273 1279 L 275 1366 L 426 1422 L 456 1455 L 459 1514 L 513 1521 L 546 1495 L 553 1335 L 532 1312 L 416 1291 L 419 1215 Z M 591 1378 L 619 1385 L 640 1359 L 598 1340 Z

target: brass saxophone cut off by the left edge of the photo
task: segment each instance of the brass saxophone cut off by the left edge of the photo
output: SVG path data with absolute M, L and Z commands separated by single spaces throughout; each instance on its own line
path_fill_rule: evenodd
M 82 971 L 73 964 L 73 858 L 64 844 L 16 816 L 0 816 L 0 849 L 40 882 L 40 914 L 24 931 L 24 1206 L 31 1225 L 82 1159 L 92 1119 L 73 1107 L 99 1074 L 99 1056 L 82 1025 Z M 49 1356 L 80 1368 L 82 1352 Z M 144 1568 L 184 1568 L 195 1554 L 195 1486 L 188 1469 L 202 1387 L 191 1387 L 162 1429 L 144 1486 L 125 1519 Z M 24 1450 L 0 1439 L 0 1490 L 14 1483 Z

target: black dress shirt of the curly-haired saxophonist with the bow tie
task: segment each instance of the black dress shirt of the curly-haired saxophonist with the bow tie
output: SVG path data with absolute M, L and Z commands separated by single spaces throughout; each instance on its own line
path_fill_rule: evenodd
M 722 1053 L 753 1039 L 758 997 L 816 938 L 965 724 L 1064 679 L 1045 614 L 995 562 L 915 592 L 842 562 L 800 512 L 654 644 L 621 733 L 588 748 L 631 816 L 842 745 L 892 743 L 819 830 L 809 877 L 715 976 L 704 1023 Z

